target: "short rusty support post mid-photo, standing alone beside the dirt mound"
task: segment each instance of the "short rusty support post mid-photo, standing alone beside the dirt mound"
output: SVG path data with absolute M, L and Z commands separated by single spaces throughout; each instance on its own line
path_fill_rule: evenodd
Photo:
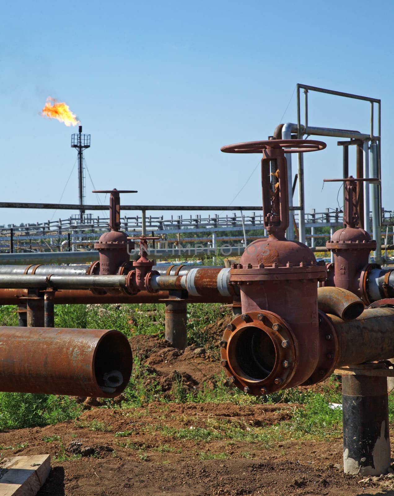
M 187 345 L 187 304 L 185 300 L 166 301 L 166 340 L 174 348 L 184 350 Z

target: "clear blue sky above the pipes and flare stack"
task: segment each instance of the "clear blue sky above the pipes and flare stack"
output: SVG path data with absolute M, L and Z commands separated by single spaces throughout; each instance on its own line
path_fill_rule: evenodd
M 394 209 L 393 14 L 393 1 L 364 0 L 3 1 L 1 201 L 60 199 L 77 128 L 40 116 L 52 96 L 91 134 L 97 188 L 138 190 L 123 203 L 229 205 L 259 158 L 220 147 L 295 122 L 299 82 L 382 100 L 383 206 Z M 309 110 L 311 125 L 369 131 L 367 102 L 310 93 Z M 326 141 L 305 156 L 307 211 L 338 206 L 338 186 L 321 189 L 341 177 L 342 149 Z M 77 202 L 76 168 L 62 202 Z M 258 167 L 233 204 L 261 204 Z M 52 216 L 1 209 L 0 223 Z

